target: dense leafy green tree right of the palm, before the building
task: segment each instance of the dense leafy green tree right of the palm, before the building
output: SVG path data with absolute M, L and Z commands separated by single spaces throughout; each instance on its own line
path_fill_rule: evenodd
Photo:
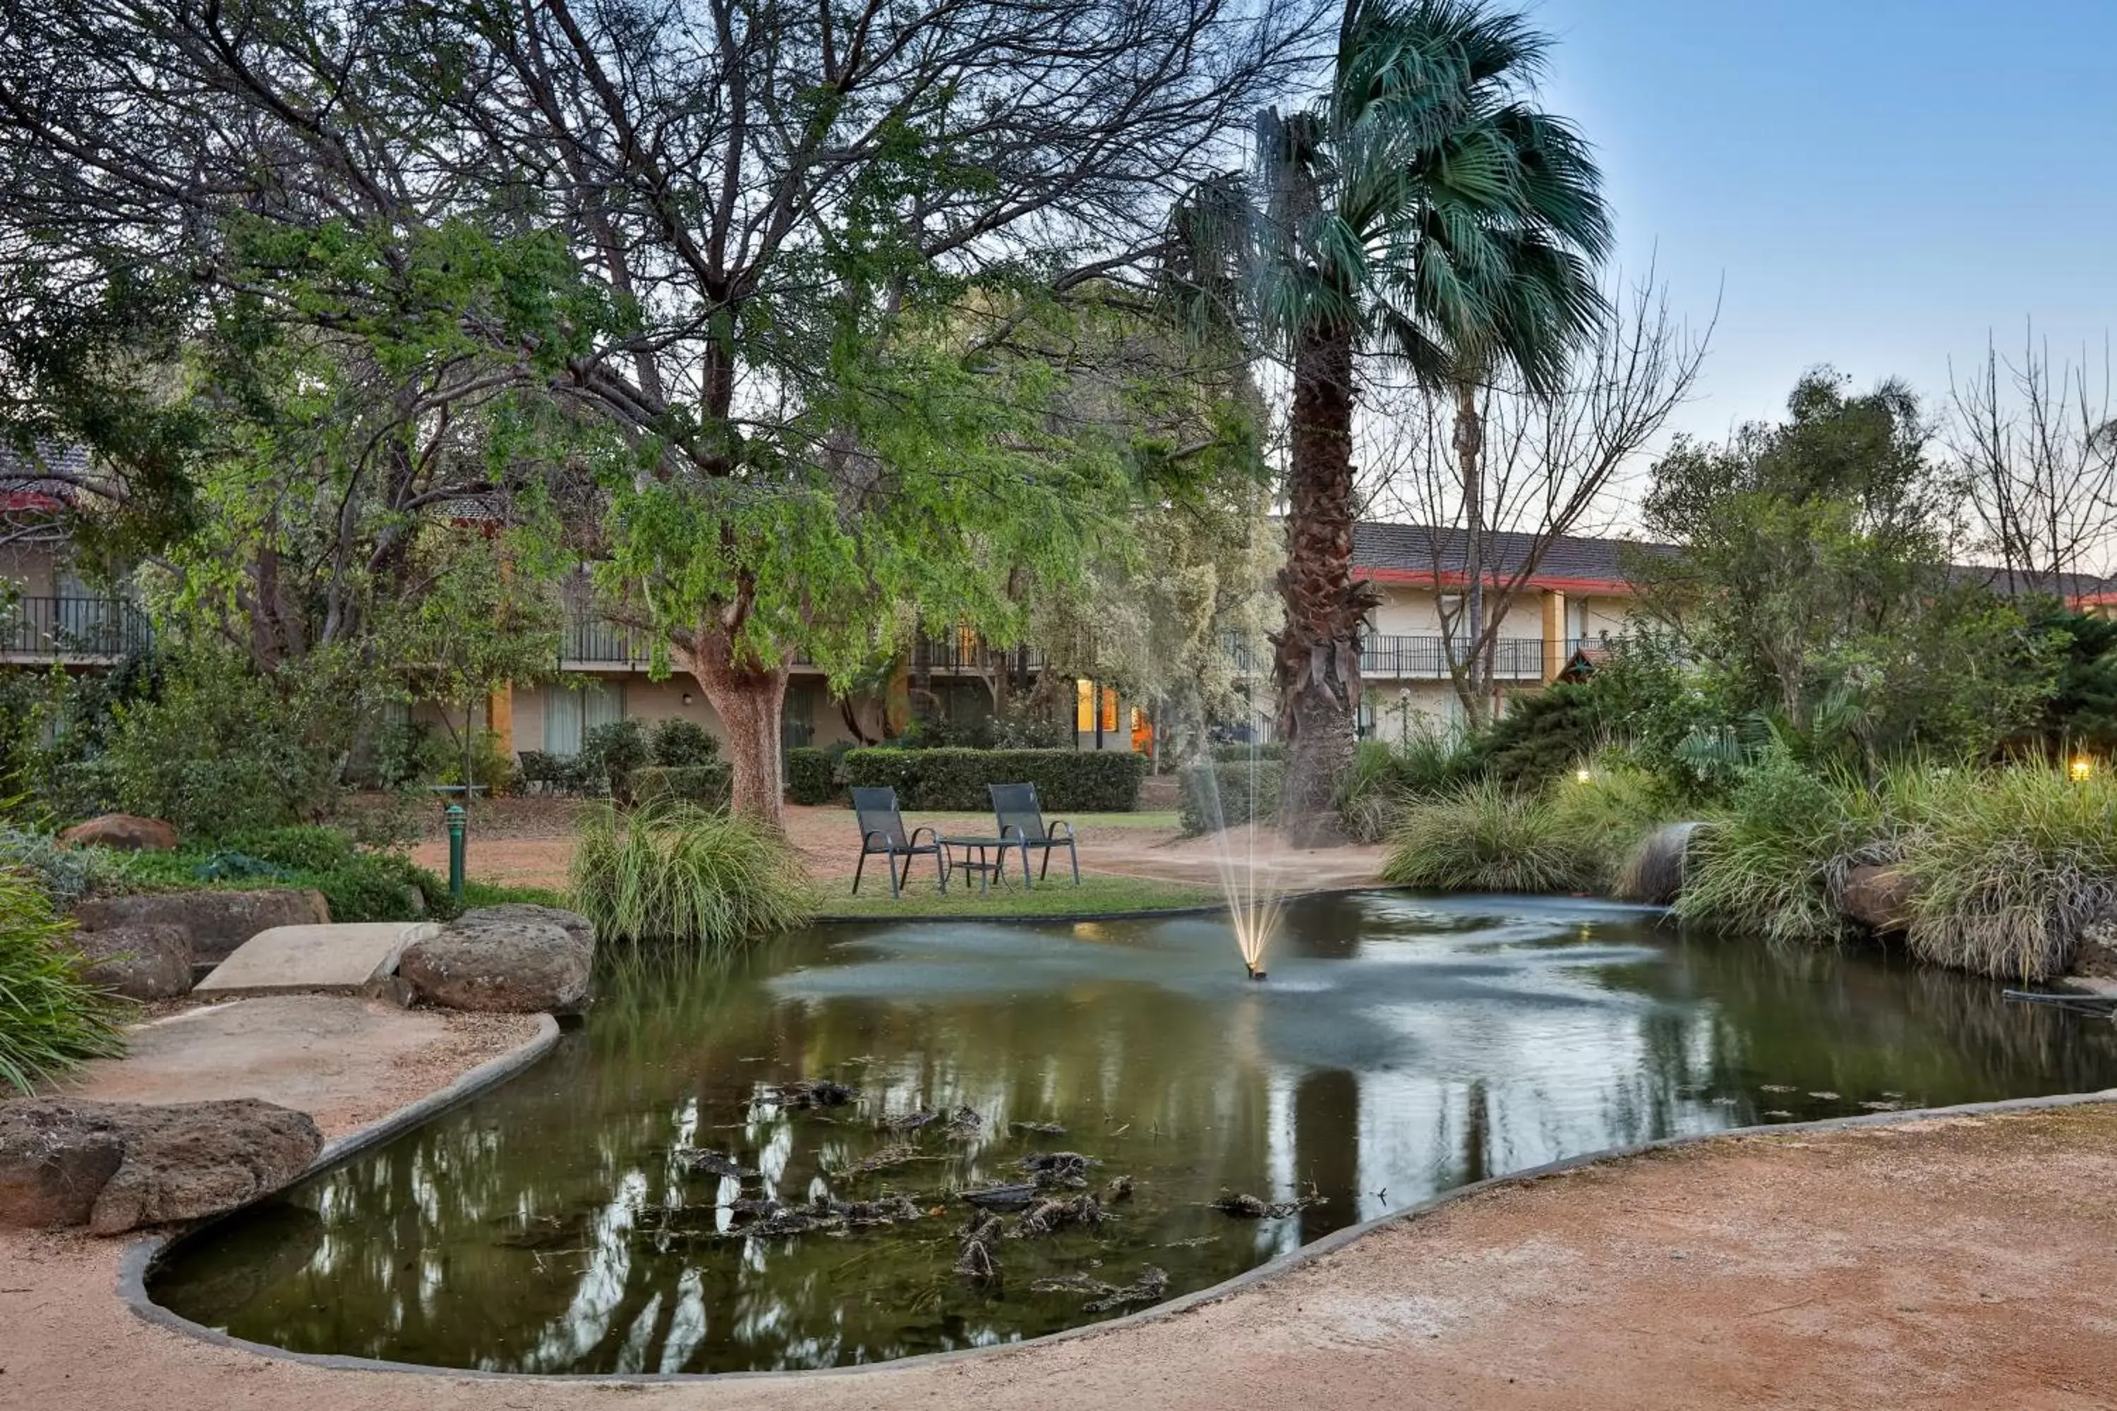
M 1647 616 L 1698 660 L 1723 719 L 1768 719 L 1819 757 L 1984 753 L 2051 690 L 2053 645 L 1950 569 L 1954 487 L 1897 383 L 1814 372 L 1787 421 L 1653 468 L 1632 554 Z

